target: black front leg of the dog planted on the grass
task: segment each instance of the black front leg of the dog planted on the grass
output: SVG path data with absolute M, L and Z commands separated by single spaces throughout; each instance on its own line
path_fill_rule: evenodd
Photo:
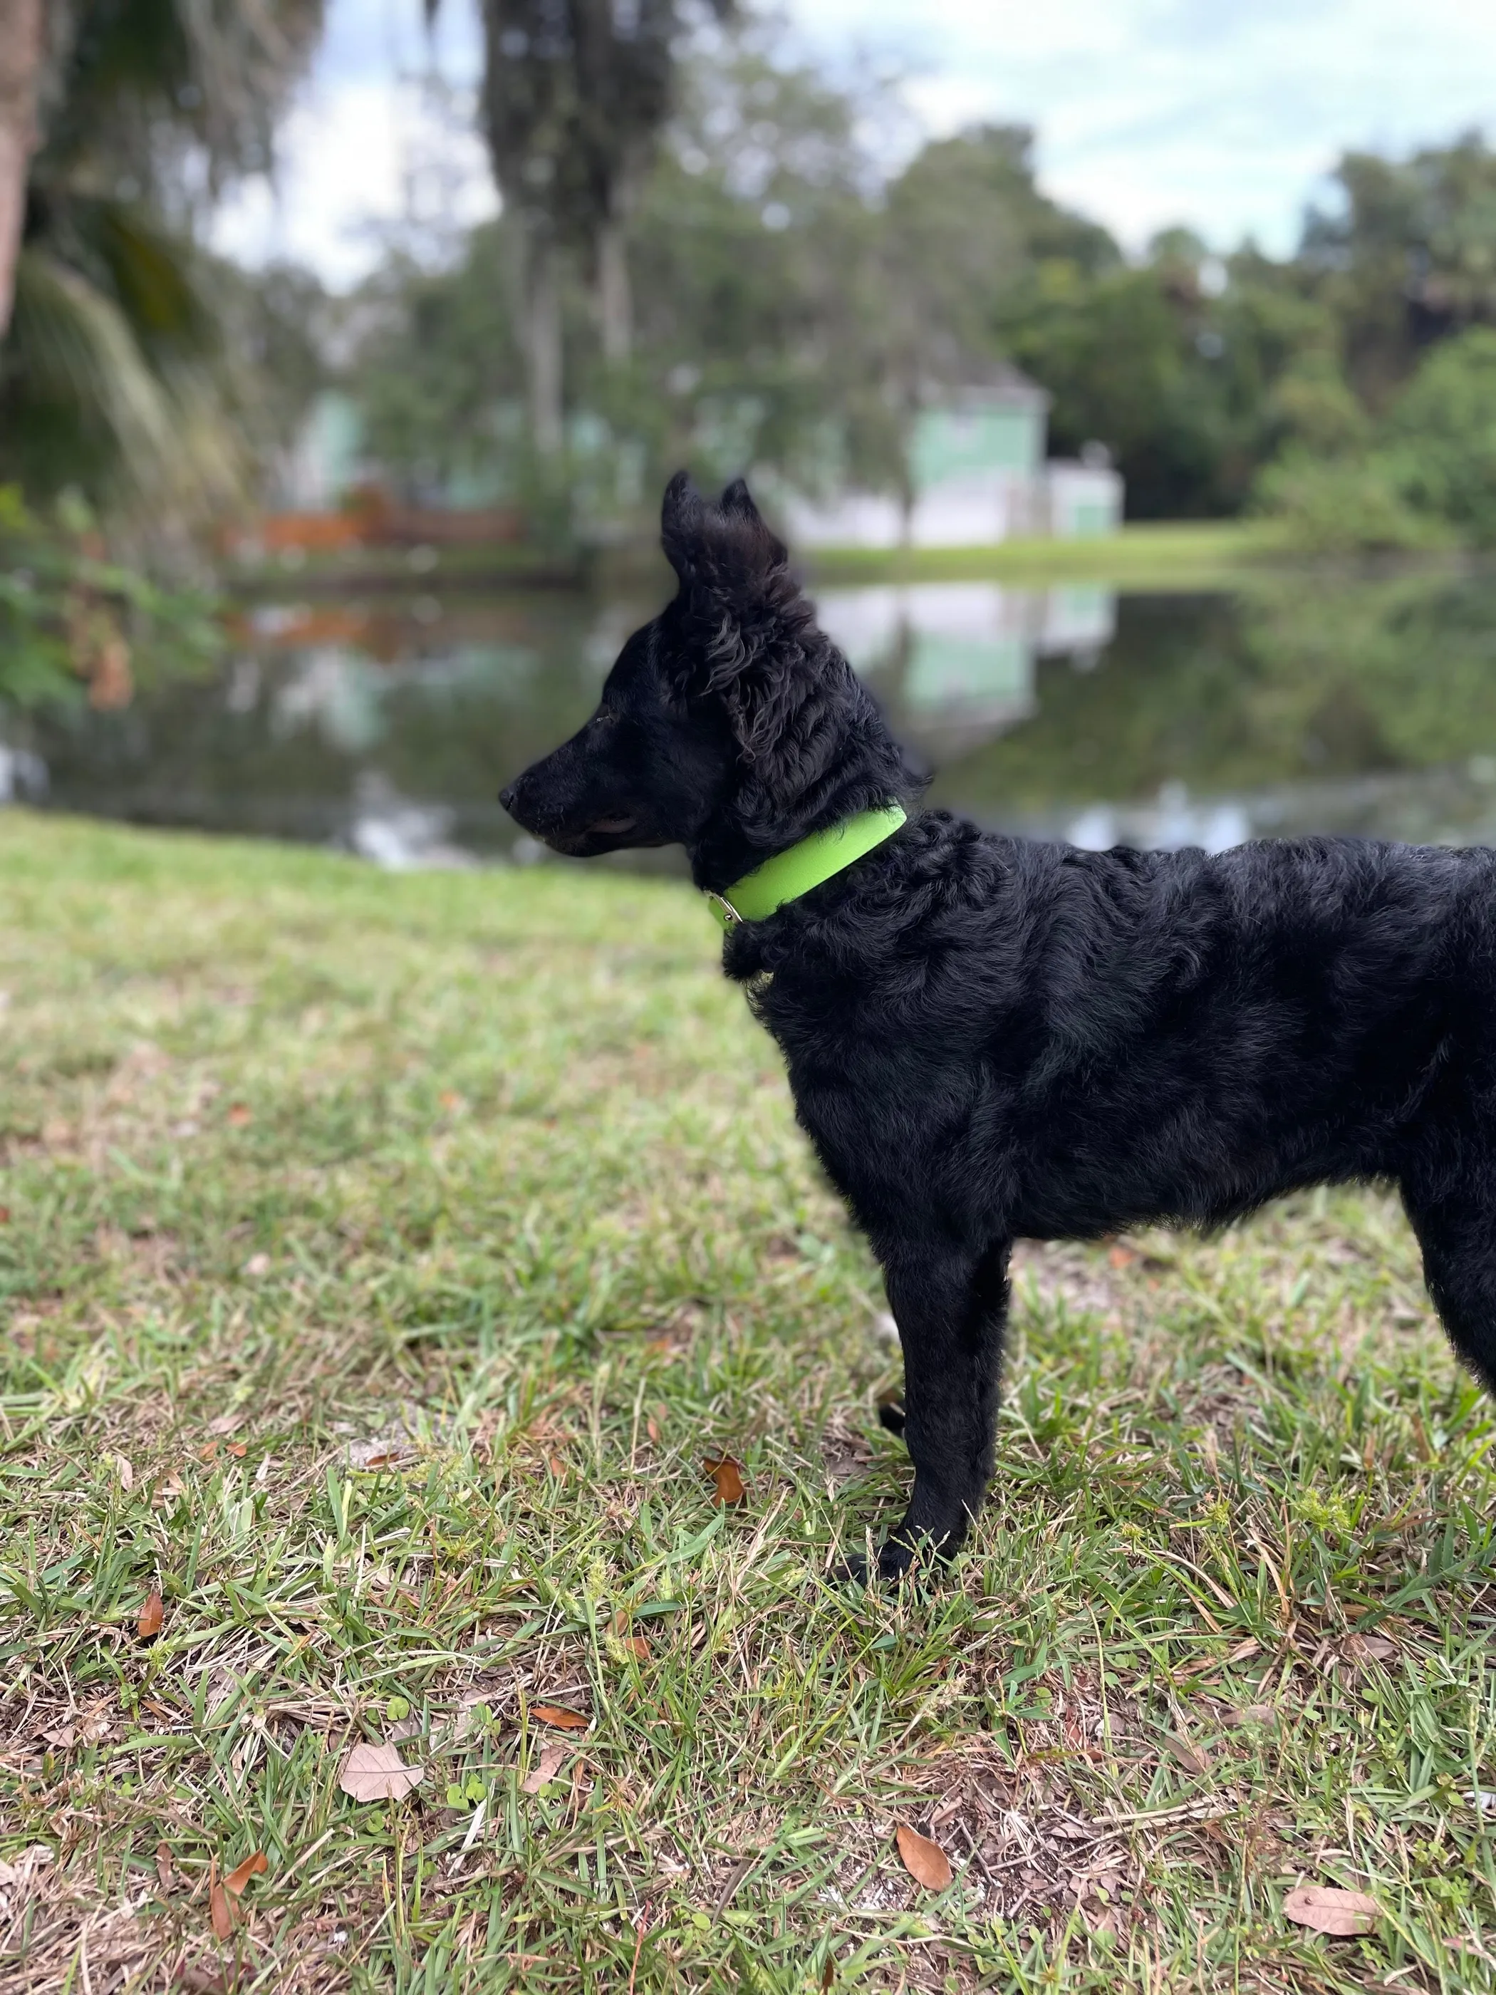
M 904 1438 L 914 1494 L 878 1554 L 886 1580 L 922 1546 L 949 1556 L 991 1476 L 1011 1241 L 969 1253 L 951 1241 L 900 1241 L 884 1283 L 904 1345 Z

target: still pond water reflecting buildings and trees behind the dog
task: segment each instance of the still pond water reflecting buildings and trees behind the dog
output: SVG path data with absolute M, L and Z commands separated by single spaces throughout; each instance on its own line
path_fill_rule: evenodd
M 1496 842 L 1496 577 L 1255 579 L 1223 595 L 826 589 L 822 620 L 935 770 L 932 798 L 1085 846 L 1326 830 Z M 590 712 L 656 604 L 580 593 L 281 602 L 215 676 L 12 722 L 0 800 L 535 860 L 499 786 Z M 644 856 L 640 864 L 678 864 Z

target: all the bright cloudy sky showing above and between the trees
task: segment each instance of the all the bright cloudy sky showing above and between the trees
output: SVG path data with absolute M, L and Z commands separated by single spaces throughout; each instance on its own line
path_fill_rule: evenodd
M 1324 176 L 1340 152 L 1406 152 L 1470 126 L 1496 142 L 1492 0 L 782 6 L 792 46 L 830 68 L 858 56 L 898 66 L 912 134 L 1033 126 L 1045 192 L 1133 249 L 1187 223 L 1217 249 L 1253 235 L 1285 253 L 1305 203 L 1330 198 Z M 419 16 L 419 0 L 331 0 L 283 134 L 279 192 L 241 190 L 219 215 L 221 247 L 251 261 L 291 255 L 345 287 L 403 213 L 439 229 L 493 211 L 477 136 L 451 112 L 423 110 L 409 82 L 427 60 Z M 435 54 L 441 76 L 471 90 L 475 0 L 443 0 Z

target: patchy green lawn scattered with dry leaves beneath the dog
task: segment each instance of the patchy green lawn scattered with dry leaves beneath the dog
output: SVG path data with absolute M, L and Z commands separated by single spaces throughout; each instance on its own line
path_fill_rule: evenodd
M 1496 1430 L 1386 1197 L 1025 1247 L 971 1550 L 862 1594 L 882 1295 L 688 894 L 0 812 L 0 992 L 8 1995 L 1496 1989 Z

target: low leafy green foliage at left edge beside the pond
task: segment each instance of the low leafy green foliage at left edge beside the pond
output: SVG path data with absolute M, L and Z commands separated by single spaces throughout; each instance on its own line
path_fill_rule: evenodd
M 0 714 L 46 700 L 126 704 L 136 656 L 152 674 L 201 668 L 221 650 L 215 604 L 110 561 L 80 499 L 44 527 L 0 485 Z

